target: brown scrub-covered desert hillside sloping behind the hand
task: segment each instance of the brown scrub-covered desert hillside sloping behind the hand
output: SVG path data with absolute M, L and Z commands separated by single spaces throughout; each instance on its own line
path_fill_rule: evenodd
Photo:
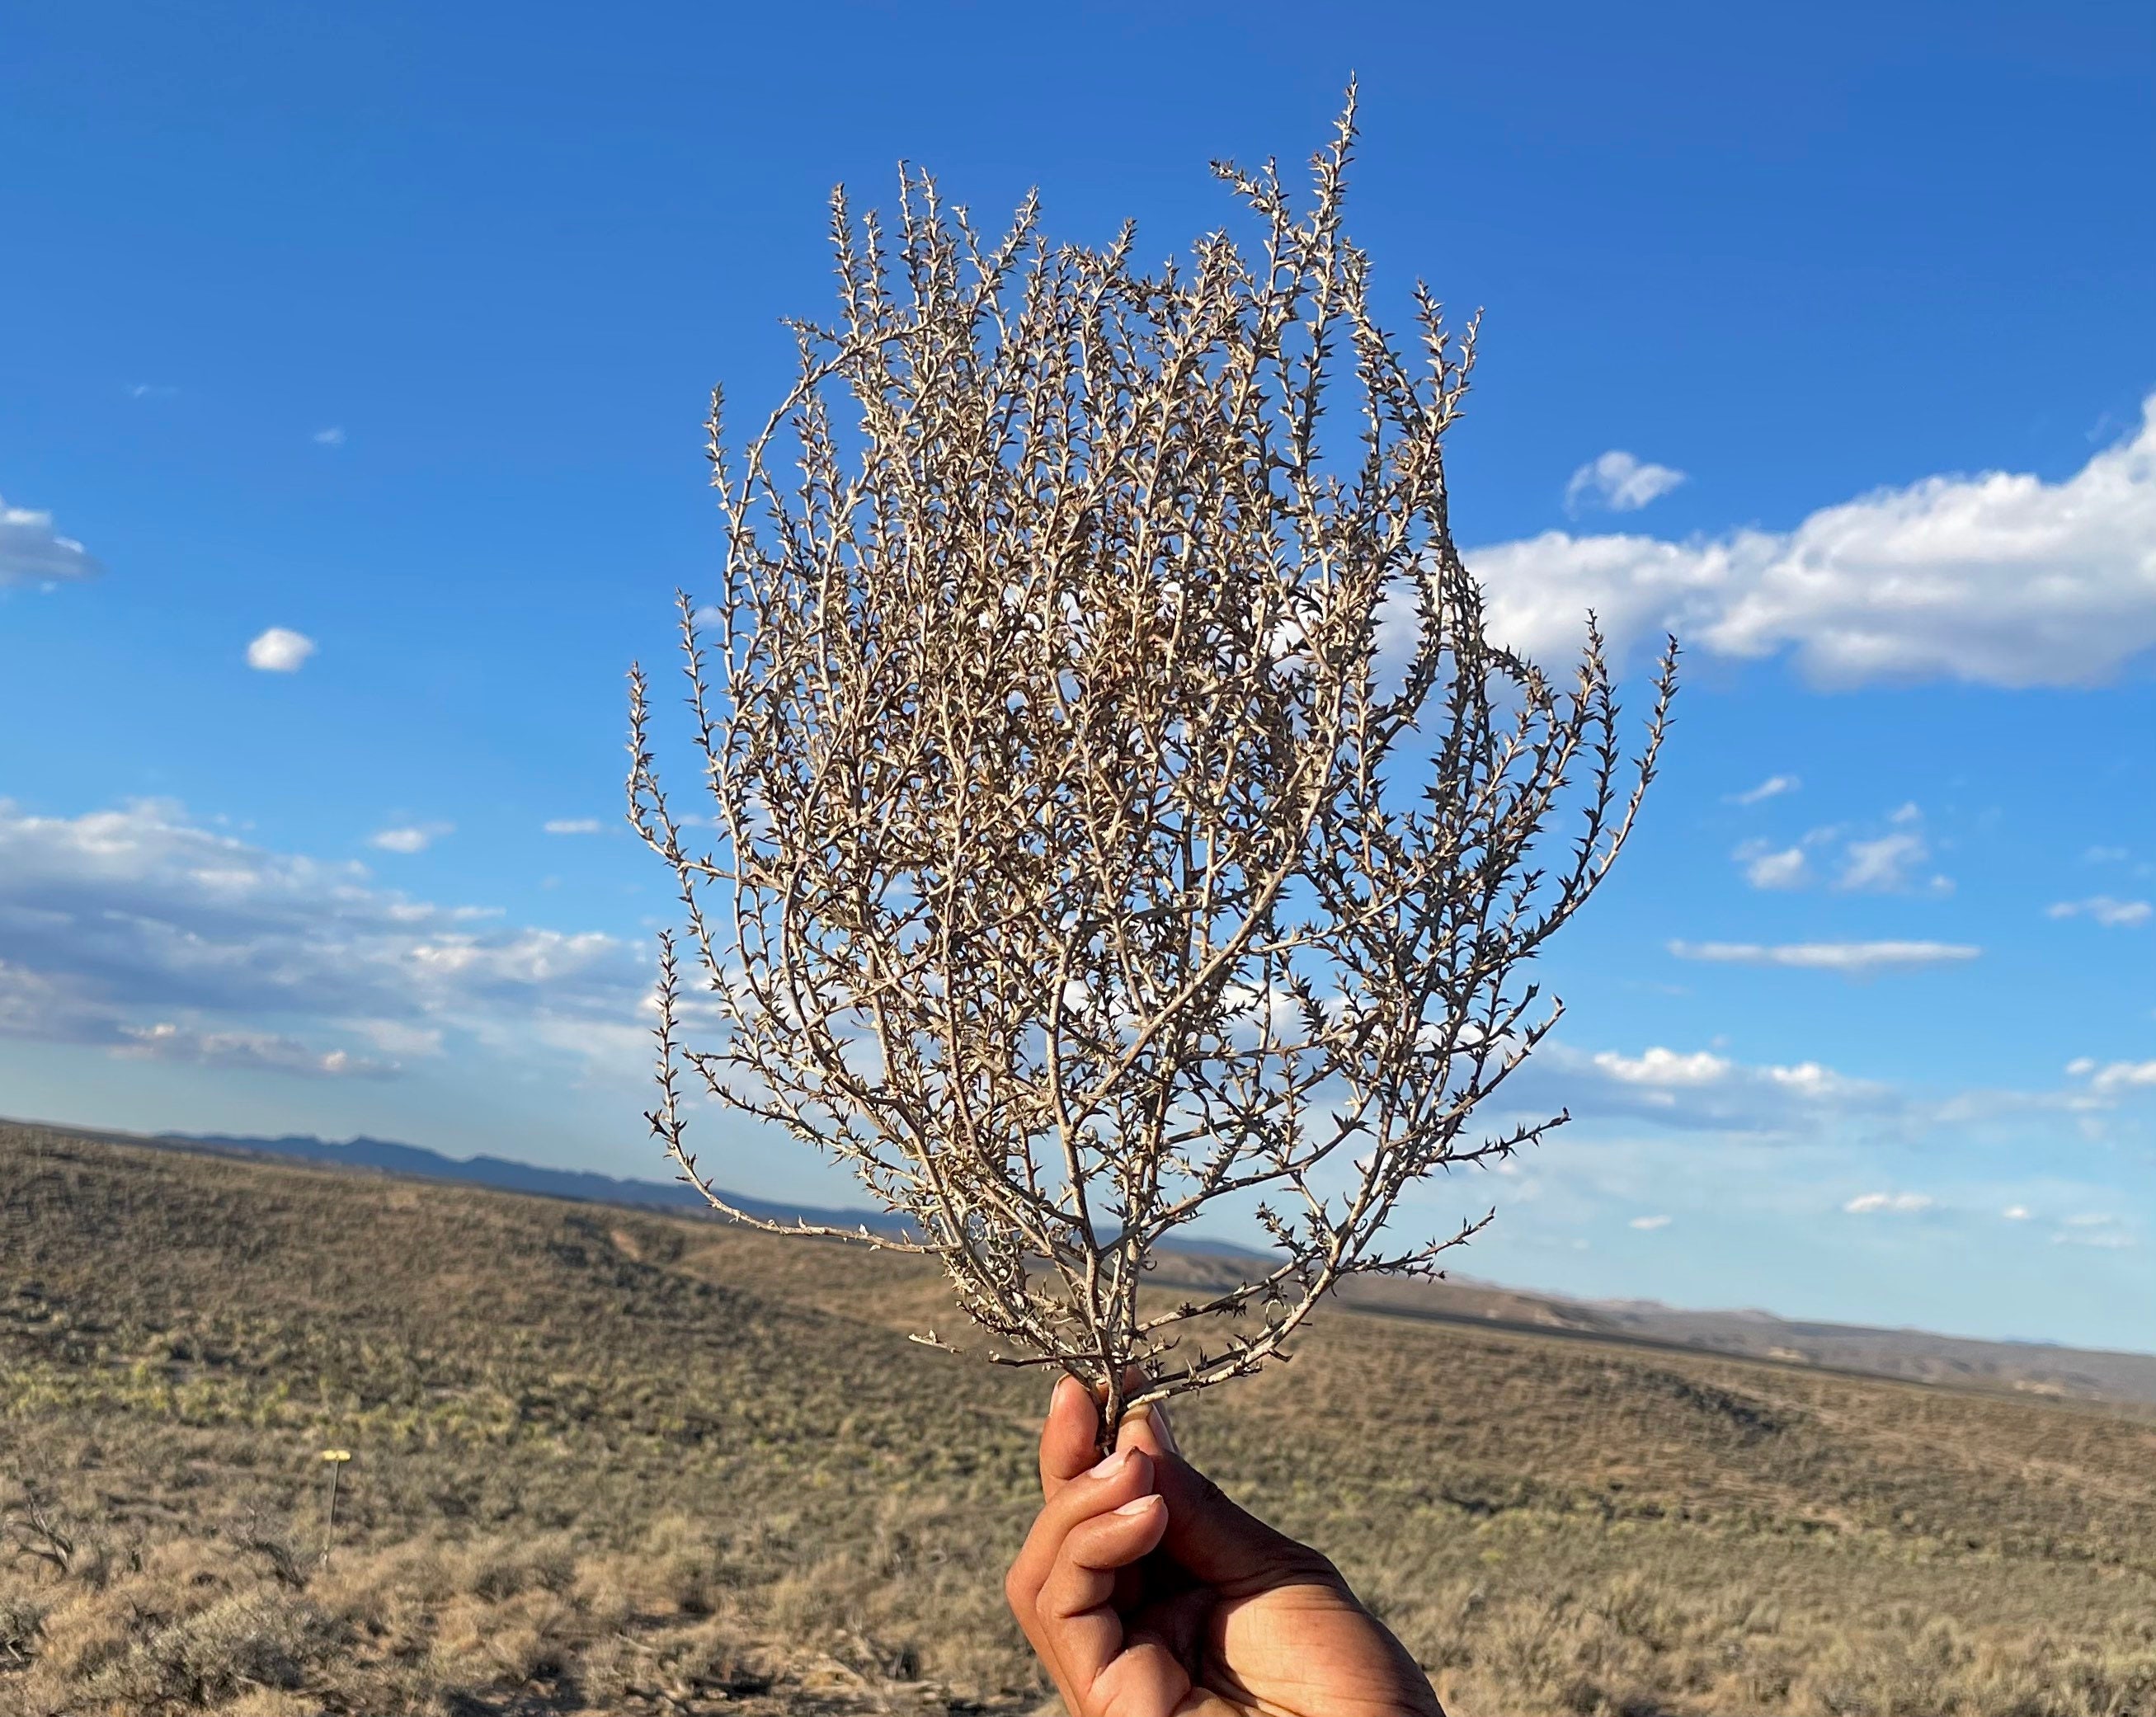
M 1022 1711 L 890 1260 L 0 1130 L 0 1711 Z M 2156 1421 L 1337 1309 L 1177 1415 L 1460 1717 L 2156 1713 Z M 323 1450 L 349 1450 L 334 1529 Z

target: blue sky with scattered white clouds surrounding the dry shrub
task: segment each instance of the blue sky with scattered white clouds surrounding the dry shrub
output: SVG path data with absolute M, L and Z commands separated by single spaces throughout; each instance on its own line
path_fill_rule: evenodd
M 1488 308 L 1503 626 L 1690 643 L 1550 962 L 1578 1120 L 1416 1212 L 1494 1197 L 1464 1268 L 1526 1286 L 2156 1348 L 2156 19 L 1498 13 L 17 13 L 0 1113 L 660 1173 L 621 675 L 830 186 L 1166 255 L 1356 71 L 1380 291 Z

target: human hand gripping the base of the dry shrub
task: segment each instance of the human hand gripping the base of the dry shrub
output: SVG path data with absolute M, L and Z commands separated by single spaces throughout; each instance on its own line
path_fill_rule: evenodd
M 1339 1570 L 1190 1467 L 1160 1409 L 1108 1460 L 1095 1424 L 1061 1378 L 1003 1588 L 1072 1717 L 1445 1717 Z

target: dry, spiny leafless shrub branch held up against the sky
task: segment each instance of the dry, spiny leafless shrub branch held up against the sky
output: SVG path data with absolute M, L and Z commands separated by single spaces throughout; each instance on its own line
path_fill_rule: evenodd
M 1300 216 L 1272 166 L 1216 168 L 1261 250 L 1153 276 L 1130 229 L 1046 244 L 1031 198 L 990 246 L 927 177 L 895 239 L 839 194 L 839 324 L 796 326 L 744 453 L 711 416 L 724 591 L 681 600 L 711 850 L 632 673 L 632 820 L 688 917 L 651 1113 L 679 1171 L 830 1232 L 711 1191 L 686 1070 L 852 1165 L 910 1238 L 845 1238 L 940 1260 L 994 1359 L 1108 1426 L 1488 1221 L 1378 1245 L 1414 1180 L 1563 1120 L 1466 1132 L 1554 1022 L 1520 966 L 1630 833 L 1675 684 L 1671 645 L 1626 764 L 1591 621 L 1563 686 L 1490 641 L 1440 457 L 1475 330 L 1419 289 L 1410 362 L 1371 321 L 1352 142 L 1350 99 Z M 1222 1208 L 1279 1264 L 1141 1303 Z

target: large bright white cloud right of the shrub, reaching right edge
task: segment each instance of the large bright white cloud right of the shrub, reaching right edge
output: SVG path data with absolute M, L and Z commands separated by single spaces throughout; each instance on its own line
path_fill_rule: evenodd
M 2156 645 L 2156 395 L 2072 477 L 1927 477 L 1794 531 L 1662 541 L 1550 531 L 1470 552 L 1507 643 L 1565 656 L 1589 608 L 1619 647 L 1660 632 L 1794 654 L 1818 684 L 2087 686 Z

